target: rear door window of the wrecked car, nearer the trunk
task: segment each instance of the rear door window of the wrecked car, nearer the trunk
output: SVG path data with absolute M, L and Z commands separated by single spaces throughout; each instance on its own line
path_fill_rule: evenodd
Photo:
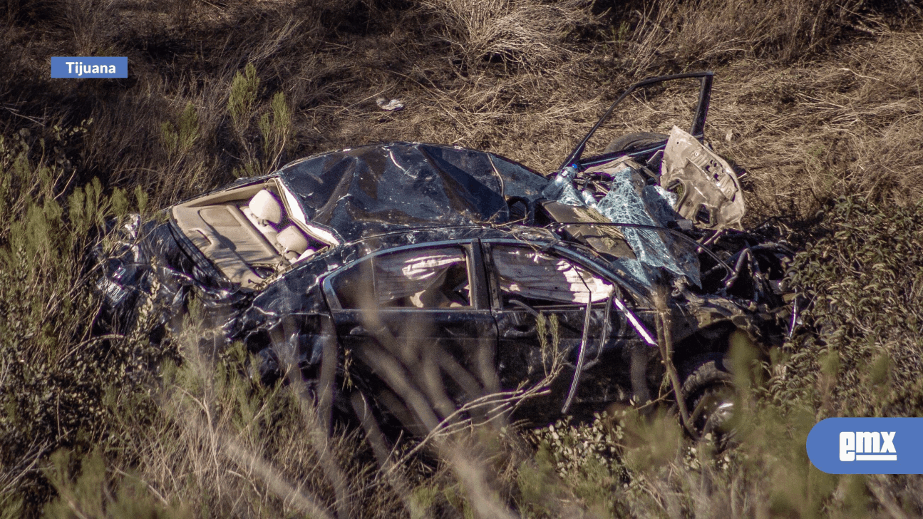
M 331 286 L 344 309 L 471 307 L 468 257 L 462 247 L 374 256 L 337 274 Z

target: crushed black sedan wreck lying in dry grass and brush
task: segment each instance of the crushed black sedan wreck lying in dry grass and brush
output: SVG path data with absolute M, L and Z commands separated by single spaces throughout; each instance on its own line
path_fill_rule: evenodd
M 629 93 L 677 78 L 700 82 L 689 132 L 582 157 Z M 663 395 L 691 434 L 720 432 L 728 344 L 780 344 L 791 252 L 740 228 L 737 175 L 701 143 L 711 84 L 633 85 L 550 177 L 485 151 L 376 144 L 136 219 L 105 256 L 108 322 L 125 331 L 150 303 L 160 340 L 194 294 L 216 347 L 246 344 L 264 383 L 420 436 Z

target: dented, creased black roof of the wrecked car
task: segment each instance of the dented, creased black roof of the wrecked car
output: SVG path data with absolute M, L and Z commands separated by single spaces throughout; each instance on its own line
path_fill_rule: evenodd
M 507 199 L 533 203 L 547 179 L 485 151 L 394 143 L 333 151 L 279 177 L 313 224 L 342 242 L 420 227 L 507 223 Z

